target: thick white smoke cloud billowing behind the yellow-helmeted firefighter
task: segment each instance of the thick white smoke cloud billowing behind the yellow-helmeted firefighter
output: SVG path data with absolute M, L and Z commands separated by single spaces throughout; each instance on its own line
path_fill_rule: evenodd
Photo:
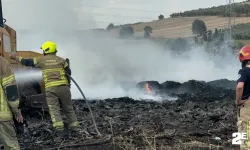
M 28 4 L 32 6 L 22 12 L 22 17 L 32 20 L 30 23 L 22 22 L 22 17 L 16 17 L 21 27 L 16 20 L 11 22 L 14 27 L 27 29 L 17 30 L 18 49 L 40 52 L 39 47 L 44 41 L 55 41 L 58 44 L 58 55 L 70 59 L 72 76 L 88 98 L 112 98 L 128 94 L 138 98 L 141 95 L 134 91 L 127 93 L 127 90 L 143 80 L 184 82 L 190 79 L 209 81 L 237 78 L 240 65 L 236 57 L 230 54 L 210 57 L 202 48 L 194 48 L 190 53 L 177 57 L 150 41 L 121 40 L 75 31 L 79 27 L 78 14 L 66 9 L 66 6 L 71 5 L 73 8 L 80 2 L 60 0 L 58 5 L 55 1 L 5 3 L 15 3 L 13 7 L 17 9 Z M 36 15 L 32 14 L 34 12 Z M 89 25 L 93 27 L 94 24 L 90 22 Z M 74 98 L 81 97 L 74 85 L 72 94 Z

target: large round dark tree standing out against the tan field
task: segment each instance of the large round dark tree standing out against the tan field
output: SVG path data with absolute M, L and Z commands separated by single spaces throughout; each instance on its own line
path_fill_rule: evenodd
M 192 23 L 193 34 L 203 35 L 203 33 L 206 31 L 207 31 L 207 26 L 204 21 L 198 19 L 194 20 L 194 22 Z

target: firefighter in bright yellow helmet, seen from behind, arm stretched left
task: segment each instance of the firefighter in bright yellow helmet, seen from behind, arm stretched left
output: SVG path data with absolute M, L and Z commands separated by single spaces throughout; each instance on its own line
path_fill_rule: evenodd
M 45 42 L 41 49 L 44 56 L 39 58 L 24 59 L 15 54 L 12 54 L 11 58 L 16 59 L 25 66 L 42 69 L 46 101 L 56 135 L 59 137 L 65 135 L 64 123 L 60 114 L 60 108 L 62 108 L 71 130 L 71 135 L 77 136 L 81 130 L 72 106 L 70 80 L 65 75 L 65 73 L 71 75 L 71 69 L 65 59 L 56 56 L 57 48 L 54 42 Z

